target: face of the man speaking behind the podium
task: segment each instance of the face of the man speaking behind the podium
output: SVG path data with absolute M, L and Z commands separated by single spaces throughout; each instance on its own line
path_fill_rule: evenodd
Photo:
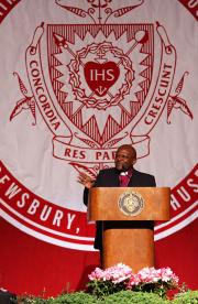
M 128 171 L 135 163 L 135 154 L 132 149 L 119 148 L 116 153 L 114 164 L 119 171 Z

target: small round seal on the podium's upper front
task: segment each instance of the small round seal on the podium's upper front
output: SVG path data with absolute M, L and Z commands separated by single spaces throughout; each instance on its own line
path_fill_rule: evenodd
M 128 191 L 120 196 L 118 206 L 124 215 L 136 216 L 141 214 L 144 208 L 144 199 L 139 193 Z

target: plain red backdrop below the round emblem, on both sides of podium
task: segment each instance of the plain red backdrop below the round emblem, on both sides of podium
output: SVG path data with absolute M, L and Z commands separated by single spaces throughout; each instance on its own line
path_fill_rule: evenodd
M 53 246 L 1 219 L 1 282 L 15 293 L 56 295 L 85 287 L 87 275 L 99 264 L 98 252 L 81 252 Z M 197 222 L 179 234 L 155 242 L 156 267 L 169 265 L 180 282 L 196 290 Z M 190 240 L 190 241 L 189 241 Z M 3 246 L 2 246 L 3 245 Z M 2 284 L 2 283 L 1 283 Z

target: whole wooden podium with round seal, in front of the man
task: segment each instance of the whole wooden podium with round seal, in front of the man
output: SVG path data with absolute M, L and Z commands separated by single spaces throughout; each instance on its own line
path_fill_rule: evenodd
M 102 267 L 154 267 L 154 220 L 169 219 L 168 187 L 92 187 L 88 220 L 102 221 Z

